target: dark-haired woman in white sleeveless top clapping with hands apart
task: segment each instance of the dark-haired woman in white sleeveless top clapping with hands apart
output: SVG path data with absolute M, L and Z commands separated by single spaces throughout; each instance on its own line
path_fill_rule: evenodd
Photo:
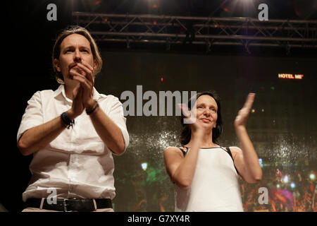
M 182 147 L 168 147 L 164 151 L 166 170 L 175 184 L 175 211 L 243 211 L 238 176 L 248 183 L 262 178 L 259 159 L 246 129 L 254 97 L 254 93 L 249 93 L 235 118 L 241 149 L 217 144 L 222 118 L 216 94 L 197 93 L 188 107 L 180 106 Z

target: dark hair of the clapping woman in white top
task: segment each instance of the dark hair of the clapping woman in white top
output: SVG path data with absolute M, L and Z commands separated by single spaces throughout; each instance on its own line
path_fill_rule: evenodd
M 209 95 L 213 97 L 213 99 L 216 101 L 217 106 L 218 106 L 218 111 L 217 111 L 217 121 L 216 121 L 216 128 L 213 128 L 213 143 L 218 142 L 218 138 L 220 137 L 221 133 L 223 132 L 223 119 L 221 118 L 221 106 L 220 106 L 220 97 L 216 94 L 214 91 L 204 91 L 201 93 L 197 93 L 197 95 L 194 95 L 190 98 L 187 106 L 189 109 L 191 106 L 194 106 L 196 100 L 201 96 L 201 95 Z M 182 133 L 180 134 L 180 143 L 182 145 L 186 145 L 189 143 L 192 131 L 189 128 L 189 124 L 184 124 L 184 115 L 182 114 L 180 117 L 180 123 L 182 124 Z M 217 143 L 218 144 L 218 143 Z

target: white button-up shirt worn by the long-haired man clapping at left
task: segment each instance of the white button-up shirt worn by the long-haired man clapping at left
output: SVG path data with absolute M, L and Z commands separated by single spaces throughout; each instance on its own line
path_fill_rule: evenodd
M 120 128 L 129 145 L 129 134 L 123 107 L 118 97 L 102 95 L 94 88 L 94 100 Z M 42 90 L 27 102 L 18 129 L 17 141 L 27 129 L 59 117 L 72 106 L 64 85 L 55 91 Z M 75 119 L 73 128 L 64 129 L 54 141 L 33 154 L 30 163 L 32 178 L 23 193 L 27 198 L 45 198 L 56 189 L 56 198 L 113 198 L 113 157 L 101 140 L 85 111 Z M 50 196 L 51 197 L 51 196 Z

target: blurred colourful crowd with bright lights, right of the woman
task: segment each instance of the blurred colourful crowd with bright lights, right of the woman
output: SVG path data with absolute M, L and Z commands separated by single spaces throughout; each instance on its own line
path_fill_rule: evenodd
M 257 184 L 241 180 L 244 211 L 317 212 L 316 172 L 275 169 L 269 174 Z

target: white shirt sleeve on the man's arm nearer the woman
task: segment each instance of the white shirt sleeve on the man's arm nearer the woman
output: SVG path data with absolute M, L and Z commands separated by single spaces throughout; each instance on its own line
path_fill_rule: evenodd
M 129 133 L 126 126 L 127 119 L 123 114 L 123 106 L 118 97 L 113 97 L 113 105 L 111 106 L 111 110 L 108 114 L 108 117 L 120 128 L 121 133 L 123 135 L 123 139 L 125 141 L 125 150 L 129 145 Z M 124 153 L 124 152 L 123 152 Z M 115 154 L 116 155 L 116 154 Z

